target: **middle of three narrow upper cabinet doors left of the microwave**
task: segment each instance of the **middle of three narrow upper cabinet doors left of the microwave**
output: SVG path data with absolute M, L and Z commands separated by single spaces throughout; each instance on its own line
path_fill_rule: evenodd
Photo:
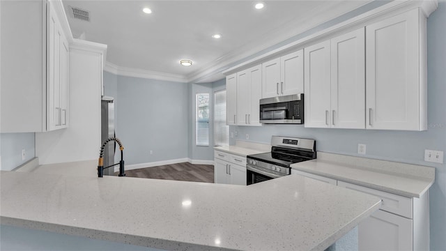
M 237 124 L 238 126 L 247 126 L 249 103 L 251 102 L 249 95 L 250 85 L 249 70 L 243 70 L 237 73 Z

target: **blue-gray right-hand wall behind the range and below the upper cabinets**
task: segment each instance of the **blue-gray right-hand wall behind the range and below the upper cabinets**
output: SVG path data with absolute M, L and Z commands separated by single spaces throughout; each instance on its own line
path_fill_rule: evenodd
M 436 183 L 430 190 L 431 250 L 446 247 L 446 165 L 424 162 L 424 149 L 446 153 L 446 3 L 441 2 L 427 22 L 428 42 L 428 130 L 424 132 L 390 130 L 316 129 L 280 125 L 245 127 L 231 126 L 238 138 L 269 143 L 272 135 L 316 139 L 316 149 L 330 153 L 358 155 L 357 144 L 367 145 L 366 158 L 394 160 L 436 167 Z M 446 156 L 445 156 L 446 157 Z

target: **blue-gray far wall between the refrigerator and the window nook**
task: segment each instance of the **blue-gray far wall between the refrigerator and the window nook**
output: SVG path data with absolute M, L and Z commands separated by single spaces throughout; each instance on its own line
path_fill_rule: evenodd
M 187 84 L 117 76 L 116 93 L 126 165 L 187 158 Z

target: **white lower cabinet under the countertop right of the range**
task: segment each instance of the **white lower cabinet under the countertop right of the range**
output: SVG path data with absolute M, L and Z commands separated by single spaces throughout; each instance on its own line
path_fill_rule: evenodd
M 292 174 L 337 184 L 382 199 L 380 210 L 358 225 L 360 251 L 429 250 L 429 191 L 420 198 L 409 198 L 295 169 Z

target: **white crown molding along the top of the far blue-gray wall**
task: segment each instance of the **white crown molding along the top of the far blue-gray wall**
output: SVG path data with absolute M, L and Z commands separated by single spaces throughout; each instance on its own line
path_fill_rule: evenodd
M 104 70 L 120 76 L 141 77 L 144 79 L 157 79 L 171 82 L 187 83 L 187 77 L 179 74 L 161 73 L 153 70 L 142 70 L 116 66 L 114 63 L 106 62 Z

